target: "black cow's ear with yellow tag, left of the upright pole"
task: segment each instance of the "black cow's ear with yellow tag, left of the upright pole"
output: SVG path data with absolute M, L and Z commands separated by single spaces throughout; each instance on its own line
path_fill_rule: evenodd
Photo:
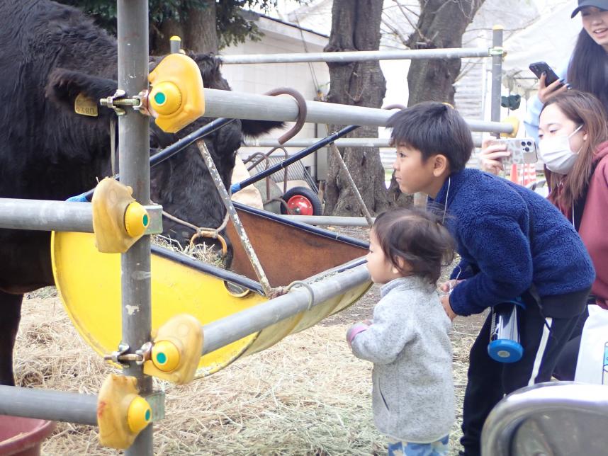
M 113 95 L 117 88 L 113 79 L 56 68 L 49 75 L 45 93 L 51 101 L 69 110 L 74 110 L 76 98 L 81 95 L 95 103 L 99 113 L 111 113 L 107 108 L 100 109 L 99 100 Z

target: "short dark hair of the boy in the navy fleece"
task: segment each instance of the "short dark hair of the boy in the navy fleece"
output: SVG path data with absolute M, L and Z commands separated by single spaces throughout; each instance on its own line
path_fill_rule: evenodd
M 386 124 L 393 129 L 393 146 L 417 149 L 422 160 L 435 154 L 445 155 L 450 171 L 461 171 L 473 152 L 471 129 L 458 111 L 444 103 L 426 101 L 400 110 Z

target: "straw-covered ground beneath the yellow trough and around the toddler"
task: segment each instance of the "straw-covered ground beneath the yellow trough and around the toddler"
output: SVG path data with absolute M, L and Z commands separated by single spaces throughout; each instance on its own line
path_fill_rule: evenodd
M 339 229 L 366 239 L 367 229 Z M 157 455 L 383 455 L 385 440 L 371 416 L 371 364 L 350 353 L 350 324 L 371 317 L 371 290 L 349 309 L 215 375 L 164 390 L 167 416 L 154 425 Z M 468 350 L 481 317 L 456 319 L 454 384 L 457 421 L 451 455 L 458 453 Z M 95 394 L 112 367 L 77 335 L 54 288 L 26 297 L 18 334 L 18 384 Z M 111 455 L 96 428 L 58 423 L 45 455 Z M 119 452 L 120 454 L 120 452 Z

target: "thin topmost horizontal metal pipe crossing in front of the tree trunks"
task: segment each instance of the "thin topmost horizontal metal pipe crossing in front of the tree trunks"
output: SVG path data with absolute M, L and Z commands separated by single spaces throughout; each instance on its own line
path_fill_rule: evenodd
M 364 62 L 367 60 L 461 59 L 490 57 L 487 47 L 453 47 L 420 50 L 381 50 L 347 52 L 303 52 L 266 55 L 219 55 L 225 64 L 298 63 L 298 62 Z

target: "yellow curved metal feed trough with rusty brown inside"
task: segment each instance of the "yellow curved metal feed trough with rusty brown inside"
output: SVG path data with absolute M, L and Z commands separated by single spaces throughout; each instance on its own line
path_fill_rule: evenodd
M 286 222 L 242 205 L 238 205 L 238 212 L 273 287 L 294 280 L 322 280 L 324 275 L 335 273 L 332 269 L 366 253 L 364 242 L 327 230 Z M 190 314 L 204 326 L 269 300 L 252 280 L 252 268 L 231 224 L 228 235 L 235 251 L 235 272 L 152 246 L 152 328 L 176 314 Z M 113 352 L 121 338 L 120 254 L 99 253 L 94 234 L 53 232 L 51 246 L 57 290 L 74 326 L 97 353 Z M 313 326 L 358 300 L 370 286 L 371 282 L 366 282 L 354 287 L 202 356 L 196 377 L 217 372 L 243 355 L 264 350 L 288 334 Z M 128 307 L 135 314 L 138 310 L 135 302 Z

